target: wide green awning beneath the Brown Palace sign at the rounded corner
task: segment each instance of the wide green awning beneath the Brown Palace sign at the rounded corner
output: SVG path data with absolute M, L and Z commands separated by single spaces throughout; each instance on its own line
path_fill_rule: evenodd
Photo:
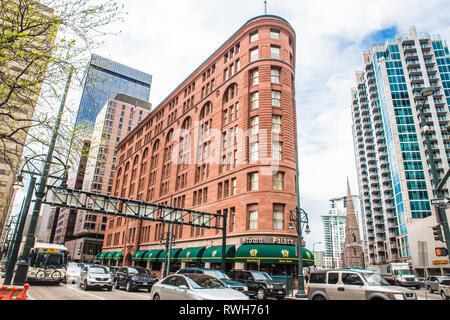
M 314 265 L 311 251 L 303 248 L 303 266 Z M 297 264 L 298 257 L 294 246 L 287 245 L 243 245 L 236 250 L 235 262 Z

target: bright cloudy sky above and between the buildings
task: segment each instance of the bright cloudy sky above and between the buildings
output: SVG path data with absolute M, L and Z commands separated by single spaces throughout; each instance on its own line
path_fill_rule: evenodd
M 152 74 L 154 106 L 246 21 L 264 14 L 263 0 L 118 3 L 127 13 L 124 21 L 109 26 L 117 34 L 93 53 Z M 363 51 L 408 33 L 412 25 L 450 40 L 450 1 L 268 0 L 268 13 L 296 31 L 301 207 L 310 216 L 307 247 L 321 250 L 320 216 L 329 200 L 346 195 L 347 178 L 358 194 L 350 90 L 363 68 Z

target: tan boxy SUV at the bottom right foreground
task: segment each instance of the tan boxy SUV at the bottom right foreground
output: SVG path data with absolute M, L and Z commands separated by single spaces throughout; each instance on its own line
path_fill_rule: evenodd
M 311 272 L 308 300 L 417 300 L 417 295 L 373 271 L 337 269 Z

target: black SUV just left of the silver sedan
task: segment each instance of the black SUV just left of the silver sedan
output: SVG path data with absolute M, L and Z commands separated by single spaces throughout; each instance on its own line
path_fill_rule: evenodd
M 157 281 L 151 271 L 141 267 L 122 267 L 115 274 L 115 288 L 125 286 L 127 291 L 147 289 L 150 292 Z

